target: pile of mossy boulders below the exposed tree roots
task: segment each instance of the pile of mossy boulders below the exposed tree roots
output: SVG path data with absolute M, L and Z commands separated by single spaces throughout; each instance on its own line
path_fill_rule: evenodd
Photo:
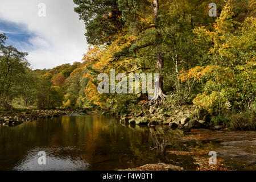
M 148 125 L 154 127 L 162 125 L 168 129 L 180 129 L 191 131 L 191 129 L 213 129 L 225 130 L 224 125 L 213 125 L 210 122 L 210 114 L 207 110 L 196 110 L 193 106 L 184 106 L 172 111 L 150 107 L 137 115 L 129 114 L 122 116 L 120 123 L 125 125 Z

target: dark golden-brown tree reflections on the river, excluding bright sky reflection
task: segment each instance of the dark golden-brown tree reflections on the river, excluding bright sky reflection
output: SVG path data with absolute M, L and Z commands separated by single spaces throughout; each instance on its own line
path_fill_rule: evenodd
M 42 119 L 13 128 L 0 127 L 0 134 L 0 154 L 14 163 L 34 147 L 44 147 L 54 156 L 80 158 L 93 164 L 90 169 L 159 163 L 164 149 L 173 140 L 162 127 L 121 126 L 115 118 L 100 115 Z M 0 156 L 0 162 L 4 158 Z

